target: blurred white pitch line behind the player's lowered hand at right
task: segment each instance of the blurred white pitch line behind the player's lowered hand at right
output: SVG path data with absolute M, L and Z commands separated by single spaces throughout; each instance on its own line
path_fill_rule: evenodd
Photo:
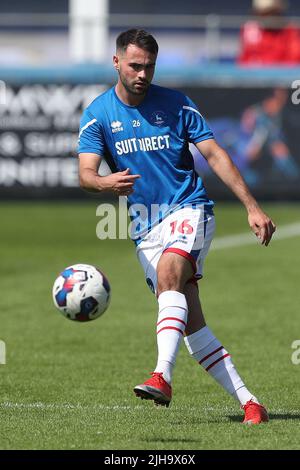
M 274 240 L 298 237 L 300 235 L 300 222 L 278 227 L 273 235 Z M 235 248 L 237 246 L 259 244 L 253 233 L 237 233 L 236 235 L 226 235 L 218 237 L 212 242 L 212 250 L 222 250 L 223 248 Z

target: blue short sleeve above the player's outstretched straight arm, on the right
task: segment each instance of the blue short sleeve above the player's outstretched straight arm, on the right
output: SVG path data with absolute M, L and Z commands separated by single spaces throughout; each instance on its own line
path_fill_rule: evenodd
M 204 117 L 195 103 L 188 97 L 186 97 L 183 104 L 182 116 L 189 142 L 196 144 L 202 140 L 214 138 L 213 132 Z

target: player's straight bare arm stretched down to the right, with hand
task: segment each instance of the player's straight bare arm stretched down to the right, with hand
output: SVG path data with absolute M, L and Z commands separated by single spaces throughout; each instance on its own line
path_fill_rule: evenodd
M 195 145 L 213 172 L 244 204 L 248 212 L 248 222 L 252 231 L 262 245 L 268 246 L 276 226 L 270 217 L 259 207 L 228 153 L 214 139 L 203 140 Z

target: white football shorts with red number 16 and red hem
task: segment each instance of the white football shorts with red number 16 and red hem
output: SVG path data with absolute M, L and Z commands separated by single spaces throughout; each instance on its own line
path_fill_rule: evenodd
M 189 259 L 194 268 L 191 281 L 202 278 L 203 264 L 215 231 L 215 218 L 197 205 L 179 209 L 156 225 L 137 246 L 137 257 L 146 282 L 156 292 L 156 268 L 163 253 L 173 252 Z

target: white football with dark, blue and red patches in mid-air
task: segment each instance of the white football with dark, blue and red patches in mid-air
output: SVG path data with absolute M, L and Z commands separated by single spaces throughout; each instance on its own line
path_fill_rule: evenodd
M 64 269 L 53 285 L 53 301 L 70 320 L 89 321 L 100 317 L 110 302 L 110 285 L 104 274 L 89 264 Z

